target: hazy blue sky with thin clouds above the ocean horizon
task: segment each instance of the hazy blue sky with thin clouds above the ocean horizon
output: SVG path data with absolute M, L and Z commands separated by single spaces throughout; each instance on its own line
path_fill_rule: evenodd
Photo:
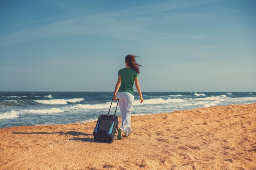
M 0 91 L 256 91 L 255 0 L 1 0 Z

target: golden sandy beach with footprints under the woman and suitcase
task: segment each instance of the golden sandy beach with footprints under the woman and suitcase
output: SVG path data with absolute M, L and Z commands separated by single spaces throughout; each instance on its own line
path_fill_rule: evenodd
M 0 170 L 256 169 L 256 104 L 132 116 L 112 144 L 94 142 L 95 125 L 2 128 Z

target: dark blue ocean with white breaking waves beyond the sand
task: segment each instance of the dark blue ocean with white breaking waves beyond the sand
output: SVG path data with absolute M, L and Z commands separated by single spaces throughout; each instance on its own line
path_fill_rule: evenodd
M 256 103 L 256 92 L 143 92 L 132 115 Z M 0 92 L 0 128 L 84 123 L 108 114 L 113 92 Z M 115 112 L 113 102 L 110 114 Z M 117 115 L 121 112 L 117 108 Z

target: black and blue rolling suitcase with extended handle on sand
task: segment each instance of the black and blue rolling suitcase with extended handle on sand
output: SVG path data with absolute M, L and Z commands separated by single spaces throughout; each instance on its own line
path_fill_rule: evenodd
M 110 108 L 112 105 L 113 99 L 110 104 Z M 118 106 L 119 99 L 117 99 Z M 108 115 L 99 115 L 96 127 L 93 131 L 94 141 L 103 141 L 112 143 L 115 138 L 115 134 L 118 130 L 118 118 L 116 116 L 117 107 L 115 110 L 115 115 L 110 115 L 110 108 L 108 110 Z

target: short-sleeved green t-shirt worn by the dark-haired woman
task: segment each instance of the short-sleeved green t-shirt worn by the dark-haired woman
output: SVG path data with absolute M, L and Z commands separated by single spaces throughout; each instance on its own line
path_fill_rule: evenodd
M 118 71 L 118 75 L 121 75 L 122 77 L 121 86 L 119 87 L 118 92 L 129 92 L 133 95 L 134 78 L 139 77 L 139 73 L 132 68 L 122 68 Z

